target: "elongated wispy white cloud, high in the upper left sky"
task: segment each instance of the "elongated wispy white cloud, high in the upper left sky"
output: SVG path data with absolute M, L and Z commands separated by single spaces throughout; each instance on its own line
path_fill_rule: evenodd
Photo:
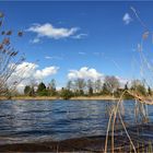
M 45 24 L 34 24 L 27 32 L 33 32 L 37 34 L 37 37 L 48 37 L 54 39 L 67 38 L 73 36 L 79 31 L 78 27 L 64 28 L 55 27 L 50 23 Z

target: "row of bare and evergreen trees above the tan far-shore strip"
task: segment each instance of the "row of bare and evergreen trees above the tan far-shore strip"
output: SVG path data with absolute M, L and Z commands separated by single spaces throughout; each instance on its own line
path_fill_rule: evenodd
M 58 96 L 64 99 L 76 96 L 114 96 L 119 97 L 125 90 L 130 90 L 139 95 L 152 95 L 150 86 L 144 85 L 140 80 L 133 80 L 131 83 L 126 83 L 123 86 L 116 76 L 105 76 L 102 80 L 84 80 L 75 79 L 67 82 L 64 87 L 57 90 L 56 80 L 51 80 L 48 85 L 40 82 L 38 85 L 26 85 L 24 95 L 26 96 Z M 125 98 L 132 98 L 128 93 Z

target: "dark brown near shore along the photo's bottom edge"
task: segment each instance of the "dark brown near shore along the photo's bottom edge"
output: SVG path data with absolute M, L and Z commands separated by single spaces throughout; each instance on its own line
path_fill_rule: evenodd
M 139 136 L 136 136 L 139 138 Z M 138 152 L 146 152 L 152 149 L 151 141 L 145 139 L 137 141 L 136 137 L 131 137 L 131 141 Z M 63 141 L 44 141 L 32 143 L 12 143 L 0 145 L 0 152 L 104 152 L 106 136 L 84 137 L 68 139 Z M 126 136 L 115 136 L 114 152 L 134 152 Z M 107 152 L 111 150 L 111 137 L 108 136 Z M 149 143 L 150 142 L 150 143 Z M 152 150 L 151 150 L 152 152 Z M 150 152 L 150 153 L 151 153 Z

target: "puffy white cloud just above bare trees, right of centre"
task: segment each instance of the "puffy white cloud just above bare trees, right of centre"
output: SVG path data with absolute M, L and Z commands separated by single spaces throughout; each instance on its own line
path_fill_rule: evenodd
M 87 68 L 87 67 L 82 67 L 80 70 L 70 70 L 68 73 L 68 79 L 93 79 L 93 80 L 98 80 L 103 79 L 104 75 L 103 73 L 97 72 L 93 68 Z

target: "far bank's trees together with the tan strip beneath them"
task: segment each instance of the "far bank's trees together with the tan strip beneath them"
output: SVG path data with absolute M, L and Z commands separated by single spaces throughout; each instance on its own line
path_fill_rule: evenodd
M 145 98 L 153 94 L 151 87 L 145 86 L 140 80 L 133 80 L 121 85 L 117 78 L 105 76 L 103 82 L 84 79 L 68 81 L 66 87 L 60 90 L 57 90 L 55 80 L 51 80 L 48 85 L 40 82 L 37 85 L 26 85 L 23 94 L 17 91 L 8 91 L 8 94 L 1 96 L 1 99 L 118 99 L 125 91 Z M 129 92 L 123 94 L 125 99 L 134 98 Z

